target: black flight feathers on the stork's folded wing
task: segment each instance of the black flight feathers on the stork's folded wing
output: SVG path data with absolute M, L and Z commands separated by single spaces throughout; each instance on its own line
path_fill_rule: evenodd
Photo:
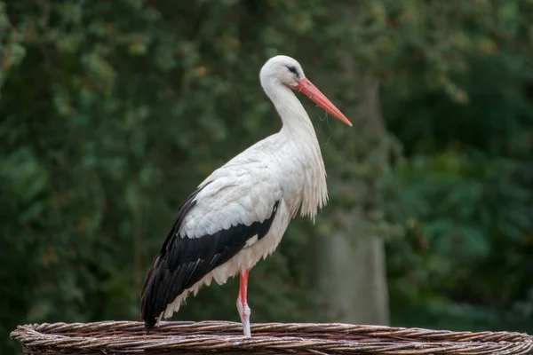
M 181 205 L 161 251 L 147 272 L 140 296 L 140 316 L 147 331 L 155 326 L 161 312 L 176 297 L 235 256 L 253 236 L 257 235 L 259 240 L 263 238 L 274 220 L 279 201 L 274 203 L 272 215 L 263 222 L 235 225 L 200 238 L 180 237 L 183 218 L 195 207 L 195 196 L 202 188 Z

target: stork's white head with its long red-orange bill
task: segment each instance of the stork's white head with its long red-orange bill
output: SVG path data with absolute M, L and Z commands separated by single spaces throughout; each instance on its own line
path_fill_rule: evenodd
M 272 57 L 261 68 L 259 77 L 263 88 L 269 96 L 272 91 L 276 91 L 276 88 L 282 86 L 294 91 L 300 91 L 339 121 L 349 126 L 352 125 L 346 116 L 306 78 L 304 69 L 302 69 L 302 66 L 300 66 L 296 59 L 284 55 Z

